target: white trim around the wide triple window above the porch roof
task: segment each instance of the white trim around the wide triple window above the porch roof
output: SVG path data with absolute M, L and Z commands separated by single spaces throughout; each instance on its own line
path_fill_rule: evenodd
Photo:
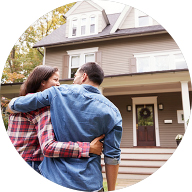
M 150 68 L 151 69 L 152 69 L 152 66 L 153 66 L 154 58 L 156 56 L 168 55 L 170 57 L 169 70 L 171 70 L 171 69 L 176 69 L 175 60 L 174 60 L 174 55 L 175 54 L 182 54 L 182 52 L 179 49 L 172 49 L 172 50 L 165 50 L 165 51 L 134 53 L 133 55 L 136 58 L 136 63 L 138 63 L 138 58 L 149 57 L 150 58 L 150 65 L 151 65 Z M 137 71 L 138 71 L 138 65 L 136 65 L 136 68 L 137 68 Z

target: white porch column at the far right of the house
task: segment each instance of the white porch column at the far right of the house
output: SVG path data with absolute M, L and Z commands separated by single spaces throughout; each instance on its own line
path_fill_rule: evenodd
M 188 81 L 181 81 L 181 95 L 182 95 L 182 103 L 183 103 L 184 126 L 185 126 L 185 131 L 186 131 L 187 121 L 190 117 Z

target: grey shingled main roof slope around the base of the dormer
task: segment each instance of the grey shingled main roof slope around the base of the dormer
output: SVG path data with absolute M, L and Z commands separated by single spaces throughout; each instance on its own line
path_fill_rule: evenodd
M 166 33 L 166 30 L 161 25 L 147 26 L 147 27 L 138 27 L 138 28 L 127 28 L 127 29 L 118 29 L 114 33 L 110 33 L 111 29 L 115 25 L 117 19 L 119 18 L 120 13 L 109 14 L 107 15 L 110 24 L 107 25 L 104 30 L 98 34 L 90 36 L 81 36 L 76 38 L 67 38 L 65 36 L 66 24 L 61 25 L 58 29 L 53 31 L 50 35 L 43 38 L 41 41 L 37 42 L 33 47 L 48 47 L 48 46 L 59 46 L 59 45 L 69 45 L 74 43 L 86 43 L 89 41 L 99 41 L 105 40 L 108 38 L 119 38 L 123 36 L 135 36 L 135 35 L 146 35 L 154 33 Z

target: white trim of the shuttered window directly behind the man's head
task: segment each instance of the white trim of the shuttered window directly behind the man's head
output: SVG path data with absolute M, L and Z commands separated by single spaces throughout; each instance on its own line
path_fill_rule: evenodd
M 94 54 L 98 52 L 98 47 L 92 47 L 87 49 L 76 49 L 76 50 L 69 50 L 67 51 L 67 54 L 69 55 L 69 72 L 68 72 L 68 78 L 71 78 L 71 57 L 72 56 L 80 56 L 80 66 L 84 64 L 85 62 L 85 55 L 87 54 Z

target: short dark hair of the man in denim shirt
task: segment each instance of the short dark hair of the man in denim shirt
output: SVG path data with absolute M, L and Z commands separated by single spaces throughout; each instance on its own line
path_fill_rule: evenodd
M 95 62 L 88 62 L 83 64 L 79 72 L 87 73 L 89 80 L 97 85 L 101 85 L 104 79 L 104 72 L 103 69 Z

